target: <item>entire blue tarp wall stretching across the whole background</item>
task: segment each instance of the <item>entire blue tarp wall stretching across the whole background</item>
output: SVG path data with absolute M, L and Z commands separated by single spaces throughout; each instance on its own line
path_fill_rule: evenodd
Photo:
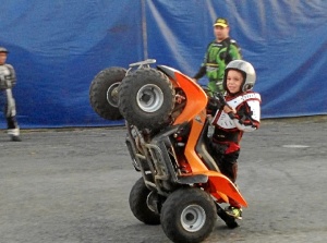
M 12 0 L 1 2 L 0 46 L 17 73 L 22 127 L 123 124 L 92 110 L 94 76 L 146 57 L 194 75 L 217 16 L 257 71 L 263 118 L 326 114 L 326 9 L 324 0 Z

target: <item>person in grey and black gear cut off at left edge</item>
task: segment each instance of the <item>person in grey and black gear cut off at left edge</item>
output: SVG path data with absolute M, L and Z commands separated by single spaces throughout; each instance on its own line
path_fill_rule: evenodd
M 12 88 L 16 84 L 16 75 L 13 66 L 7 64 L 8 50 L 0 47 L 0 92 L 5 99 L 4 113 L 8 124 L 8 134 L 13 142 L 21 142 L 20 126 L 16 121 L 16 106 L 12 95 Z

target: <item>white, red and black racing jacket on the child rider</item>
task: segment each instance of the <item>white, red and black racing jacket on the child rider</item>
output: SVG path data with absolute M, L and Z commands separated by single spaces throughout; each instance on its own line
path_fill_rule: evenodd
M 240 141 L 244 132 L 258 129 L 261 121 L 261 95 L 254 92 L 227 95 L 227 104 L 237 110 L 231 118 L 222 108 L 219 109 L 211 124 L 215 126 L 214 143 L 228 144 L 228 153 L 240 150 Z

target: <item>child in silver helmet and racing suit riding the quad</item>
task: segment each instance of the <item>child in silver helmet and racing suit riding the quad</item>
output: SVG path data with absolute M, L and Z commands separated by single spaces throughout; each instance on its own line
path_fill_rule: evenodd
M 215 126 L 210 141 L 211 155 L 222 174 L 233 183 L 238 175 L 240 141 L 244 132 L 258 129 L 261 120 L 261 95 L 252 92 L 256 81 L 253 65 L 244 60 L 231 61 L 225 70 L 225 96 L 217 94 L 208 102 L 208 113 L 214 116 Z M 242 219 L 241 205 L 229 199 L 227 214 Z

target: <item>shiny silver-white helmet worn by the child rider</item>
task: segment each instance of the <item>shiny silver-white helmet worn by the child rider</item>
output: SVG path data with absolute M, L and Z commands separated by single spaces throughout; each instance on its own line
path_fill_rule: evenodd
M 227 73 L 229 70 L 238 70 L 243 74 L 243 84 L 242 84 L 242 92 L 251 90 L 255 84 L 256 75 L 253 65 L 250 62 L 243 60 L 233 60 L 225 69 L 223 75 L 223 88 L 227 89 Z

